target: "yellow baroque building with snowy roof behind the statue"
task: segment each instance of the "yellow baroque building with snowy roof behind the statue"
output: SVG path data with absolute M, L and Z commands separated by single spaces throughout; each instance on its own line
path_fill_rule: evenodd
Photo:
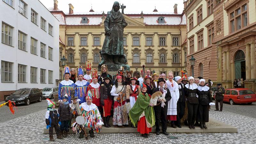
M 60 58 L 64 55 L 70 68 L 85 67 L 88 60 L 92 69 L 98 69 L 106 14 L 93 10 L 75 13 L 73 9 L 69 4 L 69 12 L 64 13 L 58 9 L 56 0 L 54 7 L 49 8 L 60 21 Z M 124 28 L 124 52 L 133 76 L 140 77 L 142 65 L 158 74 L 172 70 L 178 75 L 186 69 L 187 50 L 181 46 L 186 40 L 186 16 L 177 13 L 177 4 L 174 12 L 155 9 L 149 13 L 125 13 L 124 18 L 128 24 Z

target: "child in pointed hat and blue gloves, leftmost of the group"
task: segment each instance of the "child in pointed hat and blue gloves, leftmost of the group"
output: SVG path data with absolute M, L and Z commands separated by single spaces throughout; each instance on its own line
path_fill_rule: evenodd
M 52 102 L 50 99 L 46 99 L 48 103 L 47 111 L 45 113 L 45 123 L 46 128 L 49 128 L 49 138 L 50 141 L 54 141 L 53 139 L 53 128 L 55 129 L 57 139 L 63 139 L 62 135 L 60 134 L 60 116 L 55 109 L 55 102 Z

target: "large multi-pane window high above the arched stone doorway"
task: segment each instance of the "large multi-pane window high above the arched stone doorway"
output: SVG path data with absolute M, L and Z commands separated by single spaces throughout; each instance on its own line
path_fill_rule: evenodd
M 248 17 L 247 17 L 247 4 L 244 4 L 237 8 L 236 10 L 230 12 L 229 21 L 230 21 L 230 32 L 235 32 L 245 26 L 247 26 Z

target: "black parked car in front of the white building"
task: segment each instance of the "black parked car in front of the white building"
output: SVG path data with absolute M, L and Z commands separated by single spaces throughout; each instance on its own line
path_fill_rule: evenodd
M 42 92 L 38 88 L 21 88 L 5 98 L 5 102 L 11 100 L 15 104 L 29 105 L 33 101 L 42 101 Z

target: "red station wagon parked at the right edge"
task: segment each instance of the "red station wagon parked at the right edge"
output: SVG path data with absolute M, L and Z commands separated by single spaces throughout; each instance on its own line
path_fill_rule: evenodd
M 229 102 L 231 105 L 235 103 L 256 102 L 256 94 L 247 88 L 226 89 L 223 101 Z

